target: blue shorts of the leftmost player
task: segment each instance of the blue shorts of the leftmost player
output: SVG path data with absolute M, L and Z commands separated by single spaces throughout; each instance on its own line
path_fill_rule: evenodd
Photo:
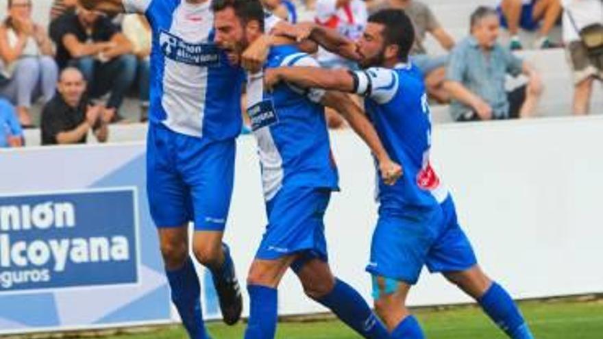
M 147 197 L 157 227 L 193 221 L 197 231 L 223 231 L 232 184 L 236 140 L 211 141 L 150 123 Z

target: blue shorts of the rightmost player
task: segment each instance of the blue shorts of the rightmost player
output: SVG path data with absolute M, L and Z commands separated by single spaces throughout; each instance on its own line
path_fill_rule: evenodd
M 380 215 L 367 271 L 414 285 L 423 265 L 431 273 L 465 271 L 477 264 L 458 225 L 452 198 L 440 208 L 408 215 Z

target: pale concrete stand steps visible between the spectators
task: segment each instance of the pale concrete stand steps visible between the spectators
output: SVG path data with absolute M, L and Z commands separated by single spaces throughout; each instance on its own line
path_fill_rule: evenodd
M 0 15 L 4 15 L 5 0 L 0 4 Z M 298 9 L 299 21 L 312 20 L 314 15 L 306 9 L 299 1 L 295 1 Z M 441 21 L 443 27 L 447 29 L 455 40 L 460 40 L 467 36 L 469 26 L 469 15 L 478 5 L 495 5 L 495 0 L 423 0 L 428 3 L 436 16 Z M 40 23 L 47 23 L 49 18 L 50 1 L 39 1 L 34 6 L 34 17 L 40 18 Z M 552 34 L 554 41 L 561 40 L 561 29 L 556 27 Z M 506 34 L 502 34 L 502 40 L 508 38 Z M 530 36 L 526 32 L 521 32 L 523 41 L 530 41 L 534 36 Z M 529 43 L 526 44 L 529 46 Z M 431 37 L 426 40 L 426 48 L 428 51 L 439 54 L 443 53 L 441 46 Z M 530 60 L 538 69 L 545 84 L 545 92 L 541 97 L 537 116 L 569 116 L 571 114 L 571 98 L 572 98 L 572 82 L 571 73 L 563 49 L 548 49 L 548 50 L 526 50 L 518 52 L 523 58 Z M 508 88 L 514 88 L 521 84 L 521 77 L 518 79 L 509 79 Z M 593 88 L 591 107 L 592 114 L 598 114 L 598 107 L 603 107 L 603 88 L 596 86 Z M 138 100 L 127 99 L 123 105 L 123 116 L 130 121 L 138 121 L 140 108 Z M 432 114 L 434 123 L 450 123 L 450 110 L 445 105 L 432 106 Z M 39 108 L 34 110 L 34 121 L 39 121 Z M 110 142 L 144 140 L 145 126 L 138 124 L 131 125 L 114 125 L 112 129 L 112 138 Z M 25 131 L 26 145 L 39 145 L 40 132 L 36 129 Z

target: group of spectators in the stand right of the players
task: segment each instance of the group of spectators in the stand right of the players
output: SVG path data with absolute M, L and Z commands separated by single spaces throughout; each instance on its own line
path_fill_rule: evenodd
M 419 0 L 317 0 L 315 21 L 354 39 L 362 33 L 367 14 L 383 8 L 404 10 L 415 26 L 410 60 L 423 73 L 430 99 L 450 104 L 454 121 L 500 120 L 534 116 L 545 90 L 534 66 L 515 55 L 525 45 L 519 38 L 519 29 L 532 32 L 534 49 L 565 47 L 576 86 L 573 112 L 589 112 L 593 82 L 603 80 L 603 46 L 585 47 L 582 30 L 589 27 L 591 37 L 598 34 L 592 40 L 603 41 L 602 3 L 493 1 L 493 6 L 480 6 L 467 18 L 469 35 L 458 42 L 441 25 L 428 3 Z M 553 42 L 551 31 L 562 18 L 563 40 Z M 508 46 L 499 42 L 501 27 L 508 32 Z M 429 53 L 424 43 L 427 34 L 447 53 Z M 321 59 L 321 52 L 319 61 L 325 67 L 353 67 L 341 58 Z M 519 75 L 524 75 L 524 84 L 507 90 L 507 80 Z

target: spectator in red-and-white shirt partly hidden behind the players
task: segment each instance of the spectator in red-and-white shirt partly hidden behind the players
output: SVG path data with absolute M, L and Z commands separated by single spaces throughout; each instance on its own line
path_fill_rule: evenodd
M 336 29 L 343 36 L 358 40 L 365 32 L 369 14 L 367 4 L 362 0 L 317 0 L 317 24 Z M 355 62 L 345 60 L 339 55 L 319 49 L 317 59 L 325 68 L 357 69 Z M 345 127 L 345 121 L 334 110 L 325 110 L 329 128 L 339 129 Z

